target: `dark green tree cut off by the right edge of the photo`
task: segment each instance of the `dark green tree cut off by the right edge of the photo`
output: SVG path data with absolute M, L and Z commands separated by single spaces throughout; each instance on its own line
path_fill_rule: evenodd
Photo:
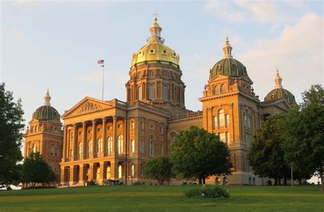
M 297 170 L 319 172 L 324 190 L 324 92 L 321 85 L 312 85 L 303 92 L 301 111 L 286 121 L 286 137 L 282 148 L 285 159 Z

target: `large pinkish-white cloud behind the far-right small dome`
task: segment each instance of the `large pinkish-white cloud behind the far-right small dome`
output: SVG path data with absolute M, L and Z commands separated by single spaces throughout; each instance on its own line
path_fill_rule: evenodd
M 256 40 L 237 59 L 247 66 L 260 96 L 273 88 L 269 79 L 278 66 L 284 88 L 298 97 L 311 84 L 323 83 L 323 16 L 306 14 L 295 25 L 286 26 L 279 38 Z

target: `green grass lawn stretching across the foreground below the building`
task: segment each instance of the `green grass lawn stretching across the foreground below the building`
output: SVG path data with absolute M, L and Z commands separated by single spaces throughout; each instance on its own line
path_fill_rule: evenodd
M 324 211 L 319 186 L 226 186 L 230 198 L 187 198 L 200 185 L 0 191 L 0 211 Z

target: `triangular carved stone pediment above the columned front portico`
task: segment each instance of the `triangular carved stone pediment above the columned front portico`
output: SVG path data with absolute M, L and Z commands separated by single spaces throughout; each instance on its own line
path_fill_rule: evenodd
M 69 116 L 77 116 L 82 114 L 88 114 L 95 111 L 100 111 L 103 109 L 108 109 L 112 107 L 111 103 L 107 101 L 102 101 L 97 98 L 92 98 L 89 96 L 85 96 L 77 105 L 73 106 L 71 109 L 66 111 L 62 118 L 67 118 Z

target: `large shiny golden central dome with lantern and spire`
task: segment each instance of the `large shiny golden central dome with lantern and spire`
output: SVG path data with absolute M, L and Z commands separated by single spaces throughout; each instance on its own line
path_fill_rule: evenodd
M 164 39 L 161 37 L 162 28 L 157 23 L 157 14 L 154 14 L 154 23 L 150 26 L 150 38 L 148 44 L 141 47 L 137 53 L 133 54 L 132 65 L 141 64 L 144 62 L 161 62 L 174 64 L 179 66 L 179 55 L 164 44 Z

